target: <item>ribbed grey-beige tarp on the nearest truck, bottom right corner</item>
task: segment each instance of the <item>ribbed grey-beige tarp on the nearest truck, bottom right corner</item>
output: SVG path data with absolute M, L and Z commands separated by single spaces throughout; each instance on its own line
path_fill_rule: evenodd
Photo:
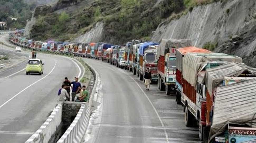
M 218 87 L 210 140 L 227 129 L 228 124 L 246 124 L 256 128 L 256 79 Z

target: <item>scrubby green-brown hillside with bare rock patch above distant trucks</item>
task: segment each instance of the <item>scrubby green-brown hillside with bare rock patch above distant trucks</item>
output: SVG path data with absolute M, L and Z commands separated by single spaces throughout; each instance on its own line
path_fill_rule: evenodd
M 159 23 L 183 9 L 183 0 L 59 0 L 36 8 L 29 36 L 114 44 L 149 40 Z

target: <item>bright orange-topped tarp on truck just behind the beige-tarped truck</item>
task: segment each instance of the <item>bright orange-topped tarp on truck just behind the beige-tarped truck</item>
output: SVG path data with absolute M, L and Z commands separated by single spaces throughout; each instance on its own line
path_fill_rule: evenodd
M 176 52 L 176 68 L 182 72 L 182 57 L 186 53 L 211 53 L 211 51 L 198 47 L 184 47 L 177 49 Z

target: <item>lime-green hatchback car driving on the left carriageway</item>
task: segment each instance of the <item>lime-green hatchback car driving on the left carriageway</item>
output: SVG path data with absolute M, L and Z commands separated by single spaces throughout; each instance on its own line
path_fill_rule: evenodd
M 30 73 L 39 73 L 42 75 L 44 73 L 44 63 L 40 59 L 30 59 L 26 67 L 26 75 Z

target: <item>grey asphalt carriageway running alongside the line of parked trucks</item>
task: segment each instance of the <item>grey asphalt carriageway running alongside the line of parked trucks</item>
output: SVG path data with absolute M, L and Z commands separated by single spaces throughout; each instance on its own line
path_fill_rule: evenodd
M 146 91 L 138 77 L 109 63 L 85 61 L 102 81 L 101 104 L 90 119 L 86 143 L 200 142 L 198 128 L 184 125 L 174 96 L 165 96 L 157 85 Z

